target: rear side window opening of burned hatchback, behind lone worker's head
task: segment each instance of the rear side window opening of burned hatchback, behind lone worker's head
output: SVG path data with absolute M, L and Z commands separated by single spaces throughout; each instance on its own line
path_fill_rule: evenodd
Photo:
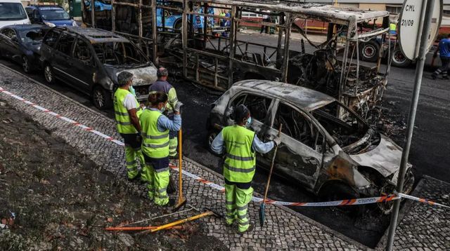
M 233 107 L 244 104 L 250 110 L 250 116 L 258 121 L 264 122 L 271 99 L 251 94 L 243 94 L 233 101 Z

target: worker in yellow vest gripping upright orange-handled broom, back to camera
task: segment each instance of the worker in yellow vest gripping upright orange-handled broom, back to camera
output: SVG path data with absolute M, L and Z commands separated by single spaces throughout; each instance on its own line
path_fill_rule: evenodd
M 143 110 L 139 120 L 142 126 L 142 152 L 146 160 L 148 198 L 156 205 L 170 205 L 167 196 L 169 184 L 169 131 L 181 128 L 180 109 L 176 102 L 173 121 L 162 113 L 167 105 L 167 94 L 157 92 L 148 95 L 149 107 Z M 173 203 L 173 202 L 172 202 Z

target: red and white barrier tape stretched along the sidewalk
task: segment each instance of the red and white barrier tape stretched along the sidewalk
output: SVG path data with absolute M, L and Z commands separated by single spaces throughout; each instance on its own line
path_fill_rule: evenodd
M 124 146 L 124 143 L 121 142 L 120 140 L 115 140 L 113 137 L 110 137 L 108 135 L 105 135 L 103 133 L 98 132 L 98 130 L 94 130 L 93 128 L 90 128 L 89 126 L 84 126 L 81 123 L 78 123 L 77 121 L 74 121 L 70 118 L 67 118 L 65 116 L 61 116 L 59 114 L 56 114 L 53 111 L 50 111 L 49 109 L 46 109 L 44 107 L 40 107 L 37 104 L 34 104 L 33 102 L 30 102 L 28 100 L 25 100 L 23 97 L 19 97 L 18 95 L 15 95 L 13 93 L 8 92 L 8 90 L 5 90 L 4 88 L 0 87 L 0 93 L 4 93 L 6 95 L 9 95 L 11 97 L 14 97 L 16 100 L 20 100 L 22 102 L 24 102 L 25 104 L 29 104 L 30 106 L 45 112 L 46 114 L 52 115 L 52 116 L 56 116 L 56 118 L 60 118 L 63 121 L 66 121 L 68 123 L 71 123 L 73 126 L 77 126 L 79 128 L 82 128 L 83 130 L 86 130 L 90 133 L 94 133 L 98 136 L 103 137 L 105 140 L 109 140 L 110 142 L 114 142 L 115 144 L 118 144 L 120 146 Z M 178 168 L 174 165 L 170 165 L 170 168 L 172 168 L 172 170 L 176 170 L 178 171 Z M 183 174 L 191 177 L 195 180 L 197 180 L 198 182 L 201 182 L 207 186 L 212 187 L 213 189 L 217 189 L 221 192 L 225 191 L 224 186 L 220 186 L 218 184 L 214 184 L 213 182 L 207 181 L 206 179 L 203 179 L 202 177 L 198 177 L 197 175 L 192 174 L 191 172 L 187 172 L 186 170 L 183 171 Z M 349 199 L 349 200 L 342 200 L 342 201 L 326 201 L 326 202 L 286 202 L 286 201 L 274 201 L 274 200 L 270 200 L 270 199 L 266 199 L 266 204 L 273 204 L 273 205 L 292 205 L 292 206 L 301 206 L 301 207 L 328 207 L 328 206 L 336 206 L 336 205 L 364 205 L 364 204 L 371 204 L 371 203 L 380 203 L 380 202 L 387 202 L 387 201 L 394 201 L 397 200 L 399 198 L 408 198 L 410 200 L 413 201 L 419 201 L 422 203 L 427 203 L 428 205 L 439 205 L 442 206 L 444 208 L 450 208 L 450 206 L 448 205 L 442 205 L 440 203 L 435 203 L 433 201 L 430 201 L 426 198 L 417 198 L 414 196 L 409 196 L 407 194 L 392 194 L 389 196 L 380 196 L 380 197 L 371 197 L 371 198 L 353 198 L 353 199 Z M 259 198 L 259 197 L 253 197 L 252 201 L 256 202 L 256 203 L 262 203 L 263 198 Z

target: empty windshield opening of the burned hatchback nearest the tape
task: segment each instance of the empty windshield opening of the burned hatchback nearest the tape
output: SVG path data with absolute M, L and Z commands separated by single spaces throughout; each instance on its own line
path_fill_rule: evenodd
M 367 124 L 337 101 L 312 111 L 312 114 L 343 149 L 360 140 L 368 140 L 364 137 L 368 132 Z

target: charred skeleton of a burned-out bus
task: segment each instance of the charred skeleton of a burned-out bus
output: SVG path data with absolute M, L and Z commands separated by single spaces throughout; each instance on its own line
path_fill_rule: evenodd
M 203 86 L 228 90 L 244 79 L 293 83 L 335 97 L 364 118 L 383 97 L 389 67 L 381 72 L 381 57 L 373 65 L 361 65 L 358 48 L 376 36 L 389 43 L 386 11 L 262 0 L 111 0 L 110 4 L 113 32 L 134 40 L 155 65 L 179 69 L 184 78 Z M 228 15 L 219 15 L 219 10 Z M 84 15 L 94 20 L 94 27 L 96 13 Z M 244 19 L 243 13 L 269 15 L 272 22 Z M 169 19 L 178 25 L 167 27 Z M 210 20 L 216 20 L 215 27 Z M 217 27 L 220 20 L 229 25 Z M 311 42 L 295 24 L 298 20 L 327 22 L 326 41 Z M 240 32 L 249 22 L 271 27 L 278 36 L 255 42 Z M 222 36 L 217 36 L 218 29 L 224 31 Z M 302 39 L 293 39 L 294 32 Z M 312 53 L 307 53 L 305 43 L 314 47 Z

